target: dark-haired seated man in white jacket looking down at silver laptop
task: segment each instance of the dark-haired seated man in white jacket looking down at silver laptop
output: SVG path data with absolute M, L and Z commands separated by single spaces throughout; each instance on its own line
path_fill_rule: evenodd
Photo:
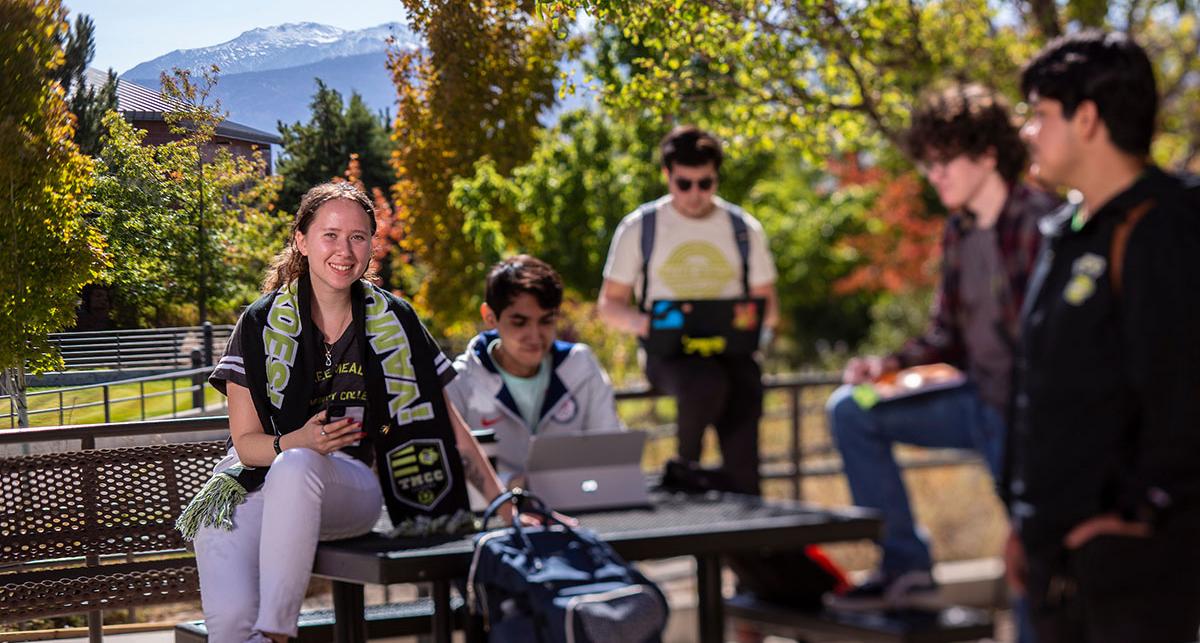
M 467 426 L 496 432 L 509 487 L 521 481 L 532 437 L 623 428 L 592 349 L 556 339 L 562 302 L 563 281 L 545 262 L 521 254 L 496 264 L 480 306 L 488 330 L 454 362 L 446 393 Z

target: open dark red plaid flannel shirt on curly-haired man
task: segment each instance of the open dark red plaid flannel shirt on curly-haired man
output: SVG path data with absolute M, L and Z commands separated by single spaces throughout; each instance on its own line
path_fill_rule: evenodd
M 1008 199 L 996 220 L 1000 258 L 1008 275 L 1008 289 L 1002 295 L 1004 301 L 1001 301 L 1004 339 L 1014 350 L 1020 332 L 1025 288 L 1042 244 L 1038 221 L 1054 212 L 1061 203 L 1054 194 L 1026 184 L 1016 184 L 1008 191 Z M 952 214 L 946 222 L 942 236 L 942 282 L 934 296 L 929 329 L 895 353 L 901 366 L 932 362 L 948 362 L 959 368 L 966 366 L 966 344 L 962 338 L 966 319 L 959 287 L 962 276 L 962 238 L 973 226 L 974 216 L 966 211 Z

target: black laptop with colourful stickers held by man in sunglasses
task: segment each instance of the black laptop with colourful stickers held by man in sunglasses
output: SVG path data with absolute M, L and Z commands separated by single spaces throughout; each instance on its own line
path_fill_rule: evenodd
M 767 300 L 656 299 L 642 347 L 652 355 L 749 355 L 758 349 Z

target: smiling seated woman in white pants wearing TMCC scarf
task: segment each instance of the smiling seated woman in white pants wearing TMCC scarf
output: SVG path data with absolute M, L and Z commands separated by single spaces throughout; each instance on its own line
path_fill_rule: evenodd
M 317 542 L 368 531 L 384 503 L 409 533 L 461 533 L 464 482 L 500 492 L 445 398 L 450 361 L 408 302 L 364 280 L 374 232 L 361 191 L 310 190 L 210 377 L 229 452 L 178 524 L 212 641 L 296 636 Z

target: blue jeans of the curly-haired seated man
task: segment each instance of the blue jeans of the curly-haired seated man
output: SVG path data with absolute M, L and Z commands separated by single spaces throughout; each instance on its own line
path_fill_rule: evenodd
M 978 451 L 992 479 L 1000 479 L 1004 449 L 1004 421 L 971 384 L 877 404 L 866 410 L 841 386 L 829 397 L 829 431 L 854 504 L 883 515 L 886 575 L 929 571 L 932 558 L 925 536 L 918 533 L 908 505 L 908 491 L 892 452 L 894 443 Z

